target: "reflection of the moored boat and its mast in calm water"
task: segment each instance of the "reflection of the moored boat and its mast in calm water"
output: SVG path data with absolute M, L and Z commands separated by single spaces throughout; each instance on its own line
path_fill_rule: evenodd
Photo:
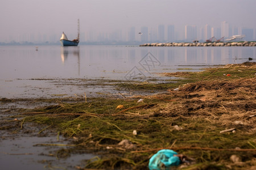
M 65 63 L 65 61 L 67 61 L 68 56 L 72 58 L 77 57 L 78 75 L 80 75 L 80 47 L 79 46 L 61 46 L 60 58 L 62 63 Z

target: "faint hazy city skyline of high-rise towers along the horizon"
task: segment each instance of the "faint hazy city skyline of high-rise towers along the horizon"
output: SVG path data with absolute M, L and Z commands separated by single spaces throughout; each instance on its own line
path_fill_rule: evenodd
M 156 28 L 143 27 L 130 27 L 127 31 L 118 29 L 113 32 L 81 32 L 81 42 L 175 42 L 175 41 L 188 41 L 193 40 L 206 41 L 210 37 L 221 39 L 225 37 L 227 39 L 233 35 L 247 35 L 245 39 L 249 41 L 255 40 L 256 28 L 246 27 L 231 27 L 228 22 L 221 22 L 220 27 L 210 27 L 209 24 L 205 24 L 204 27 L 198 28 L 197 25 L 184 25 L 183 36 L 177 36 L 179 33 L 175 30 L 175 25 L 157 25 Z M 249 37 L 248 37 L 249 35 Z M 77 33 L 74 31 L 68 37 L 75 39 Z M 58 42 L 59 35 L 52 34 L 46 35 L 38 33 L 37 35 L 18 35 L 16 37 L 9 36 L 8 40 L 2 42 Z

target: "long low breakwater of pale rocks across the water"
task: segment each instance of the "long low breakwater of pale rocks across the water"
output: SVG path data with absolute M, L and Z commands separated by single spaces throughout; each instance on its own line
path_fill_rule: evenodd
M 256 42 L 165 42 L 146 43 L 139 46 L 256 46 Z

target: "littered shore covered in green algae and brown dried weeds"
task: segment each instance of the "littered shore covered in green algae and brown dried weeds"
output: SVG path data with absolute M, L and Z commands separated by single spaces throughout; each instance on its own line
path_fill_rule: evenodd
M 94 155 L 70 169 L 148 169 L 159 151 L 178 157 L 174 169 L 255 168 L 255 62 L 159 74 L 170 82 L 108 84 L 117 91 L 157 90 L 154 95 L 2 98 L 2 106 L 16 108 L 2 110 L 0 130 L 65 138 L 51 145 L 56 151 L 45 154 L 51 158 Z M 21 102 L 30 107 L 19 108 Z

